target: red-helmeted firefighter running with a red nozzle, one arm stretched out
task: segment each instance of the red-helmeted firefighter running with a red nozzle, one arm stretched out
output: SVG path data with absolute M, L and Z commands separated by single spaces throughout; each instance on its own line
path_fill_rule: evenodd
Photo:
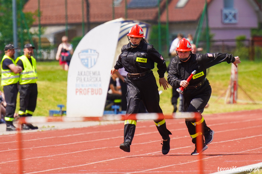
M 240 59 L 227 53 L 193 54 L 192 46 L 185 38 L 179 41 L 175 50 L 177 56 L 170 63 L 168 82 L 174 88 L 185 88 L 183 92 L 184 112 L 199 112 L 201 114 L 211 96 L 211 86 L 206 79 L 206 69 L 221 62 L 233 63 L 237 67 Z M 196 70 L 196 74 L 187 82 L 186 79 L 194 70 Z M 195 148 L 191 153 L 191 155 L 198 155 L 207 149 L 207 144 L 213 141 L 214 131 L 206 126 L 203 117 L 195 121 L 186 120 L 185 123 L 192 143 L 196 144 L 197 136 L 202 138 L 201 151 L 198 152 Z M 196 132 L 196 125 L 201 125 L 203 132 Z

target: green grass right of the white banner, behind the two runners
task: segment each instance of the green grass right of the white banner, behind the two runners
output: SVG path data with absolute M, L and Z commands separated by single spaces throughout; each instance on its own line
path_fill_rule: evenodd
M 226 94 L 223 95 L 229 86 L 231 64 L 223 62 L 210 67 L 206 78 L 209 80 L 209 83 L 212 87 L 212 94 L 209 100 L 209 107 L 204 110 L 204 114 L 262 108 L 262 93 L 260 92 L 262 89 L 262 73 L 260 71 L 261 67 L 262 62 L 242 61 L 239 64 L 238 84 L 247 94 L 239 87 L 238 100 L 236 104 L 226 103 Z M 158 83 L 158 74 L 156 68 L 154 69 L 154 74 L 157 77 Z M 165 77 L 167 77 L 167 73 L 165 74 Z M 171 89 L 172 87 L 170 86 L 166 91 L 163 90 L 163 87 L 159 87 L 158 89 L 163 90 L 163 93 L 160 95 L 160 106 L 164 113 L 171 113 L 173 110 L 173 106 L 171 104 Z M 221 98 L 219 99 L 219 97 Z M 255 100 L 257 104 L 253 104 L 249 97 Z

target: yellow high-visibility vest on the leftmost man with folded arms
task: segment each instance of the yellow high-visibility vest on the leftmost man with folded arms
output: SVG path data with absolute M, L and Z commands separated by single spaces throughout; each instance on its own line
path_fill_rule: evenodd
M 15 66 L 16 66 L 14 59 L 12 59 L 11 57 L 9 57 L 7 55 L 4 55 L 4 57 L 1 61 L 1 77 L 2 77 L 1 85 L 6 86 L 6 85 L 10 85 L 10 84 L 16 84 L 19 81 L 19 74 L 15 74 L 10 69 L 6 69 L 6 70 L 3 69 L 3 61 L 5 59 L 10 59 L 13 62 L 13 64 L 15 64 Z

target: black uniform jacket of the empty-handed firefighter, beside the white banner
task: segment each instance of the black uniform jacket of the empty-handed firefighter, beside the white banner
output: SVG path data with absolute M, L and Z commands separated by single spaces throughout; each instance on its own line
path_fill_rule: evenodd
M 124 45 L 114 68 L 118 70 L 124 67 L 128 73 L 137 74 L 154 69 L 155 62 L 157 63 L 159 77 L 164 77 L 166 71 L 165 60 L 153 48 L 153 45 L 148 45 L 142 40 L 136 48 L 132 48 L 130 43 Z

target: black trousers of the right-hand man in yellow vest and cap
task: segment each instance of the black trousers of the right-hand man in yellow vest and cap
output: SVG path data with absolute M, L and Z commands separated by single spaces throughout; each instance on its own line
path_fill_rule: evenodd
M 19 93 L 20 93 L 20 109 L 24 113 L 29 112 L 27 114 L 20 115 L 20 117 L 32 116 L 32 113 L 36 109 L 36 99 L 37 99 L 37 84 L 20 84 L 19 85 Z

